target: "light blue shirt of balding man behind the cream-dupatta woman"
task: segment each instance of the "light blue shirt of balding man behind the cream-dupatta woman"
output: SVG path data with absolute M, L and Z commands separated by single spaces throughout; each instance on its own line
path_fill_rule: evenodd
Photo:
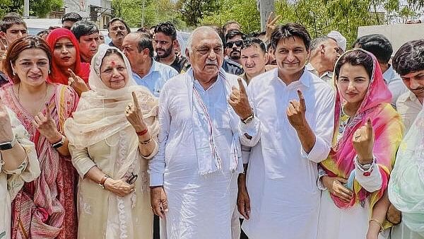
M 146 86 L 153 95 L 159 97 L 160 90 L 162 90 L 165 82 L 170 78 L 177 76 L 177 74 L 178 71 L 173 69 L 171 66 L 152 60 L 151 69 L 148 71 L 146 76 L 141 78 L 133 71 L 133 78 L 139 86 Z

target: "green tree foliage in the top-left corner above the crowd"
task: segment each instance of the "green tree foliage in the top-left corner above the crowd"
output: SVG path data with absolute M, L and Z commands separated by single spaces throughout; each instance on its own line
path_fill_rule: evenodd
M 45 18 L 48 13 L 59 10 L 62 6 L 62 0 L 30 0 L 30 16 Z M 23 0 L 0 0 L 0 15 L 10 12 L 22 14 Z

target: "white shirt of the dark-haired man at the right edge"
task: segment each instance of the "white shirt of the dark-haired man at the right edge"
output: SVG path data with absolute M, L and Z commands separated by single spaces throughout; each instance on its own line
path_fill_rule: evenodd
M 396 111 L 401 115 L 402 122 L 405 125 L 405 134 L 411 128 L 418 113 L 423 109 L 420 100 L 411 91 L 405 92 L 399 96 L 396 101 Z

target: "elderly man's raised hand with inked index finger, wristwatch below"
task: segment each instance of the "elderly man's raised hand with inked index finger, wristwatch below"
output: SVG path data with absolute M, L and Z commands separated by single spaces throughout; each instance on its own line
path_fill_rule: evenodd
M 240 119 L 247 119 L 252 115 L 252 107 L 249 104 L 249 98 L 247 97 L 246 88 L 243 85 L 242 79 L 237 79 L 239 83 L 239 88 L 232 86 L 232 93 L 228 99 L 231 107 L 234 109 L 235 113 L 240 117 Z

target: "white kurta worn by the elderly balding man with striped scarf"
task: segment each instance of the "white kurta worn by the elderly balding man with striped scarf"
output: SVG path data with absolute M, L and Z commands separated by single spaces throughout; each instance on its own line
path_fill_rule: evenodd
M 169 211 L 161 223 L 161 235 L 166 233 L 168 239 L 230 239 L 231 218 L 236 209 L 237 173 L 230 170 L 233 132 L 223 78 L 218 77 L 206 91 L 194 81 L 211 117 L 222 160 L 222 170 L 199 175 L 196 132 L 189 106 L 192 95 L 185 83 L 186 75 L 167 81 L 160 94 L 160 148 L 149 163 L 151 186 L 163 185 L 167 194 Z M 226 74 L 226 78 L 237 86 L 236 76 Z M 238 163 L 241 168 L 242 161 Z

